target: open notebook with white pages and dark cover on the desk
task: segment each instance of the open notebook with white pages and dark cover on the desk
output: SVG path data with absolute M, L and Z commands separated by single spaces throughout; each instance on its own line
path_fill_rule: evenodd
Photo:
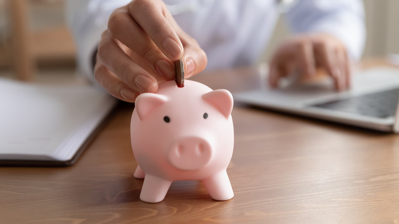
M 116 103 L 89 85 L 0 78 L 0 165 L 72 165 Z

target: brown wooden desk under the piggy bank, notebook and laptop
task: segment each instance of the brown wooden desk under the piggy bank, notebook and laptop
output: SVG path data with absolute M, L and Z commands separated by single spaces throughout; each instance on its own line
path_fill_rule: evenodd
M 255 70 L 212 87 L 257 85 Z M 255 77 L 255 78 L 254 78 Z M 209 84 L 209 80 L 207 82 Z M 246 107 L 233 109 L 233 199 L 175 182 L 158 204 L 140 201 L 121 105 L 67 168 L 0 168 L 0 223 L 399 223 L 399 136 Z

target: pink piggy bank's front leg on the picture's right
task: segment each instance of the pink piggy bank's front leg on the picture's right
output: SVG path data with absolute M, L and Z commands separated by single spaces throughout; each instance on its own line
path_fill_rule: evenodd
M 216 173 L 202 182 L 215 200 L 228 200 L 234 196 L 226 170 Z

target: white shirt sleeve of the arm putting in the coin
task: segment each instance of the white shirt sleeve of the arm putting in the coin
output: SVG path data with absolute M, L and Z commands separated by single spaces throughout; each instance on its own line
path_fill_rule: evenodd
M 107 29 L 109 15 L 130 0 L 68 0 L 66 21 L 74 36 L 77 65 L 81 73 L 94 81 L 92 58 L 101 33 Z

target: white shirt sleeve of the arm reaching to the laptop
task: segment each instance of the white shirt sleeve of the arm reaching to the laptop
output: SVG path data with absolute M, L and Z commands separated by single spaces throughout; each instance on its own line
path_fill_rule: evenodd
M 298 0 L 286 18 L 294 33 L 333 35 L 343 42 L 352 60 L 361 58 L 366 33 L 362 1 Z

